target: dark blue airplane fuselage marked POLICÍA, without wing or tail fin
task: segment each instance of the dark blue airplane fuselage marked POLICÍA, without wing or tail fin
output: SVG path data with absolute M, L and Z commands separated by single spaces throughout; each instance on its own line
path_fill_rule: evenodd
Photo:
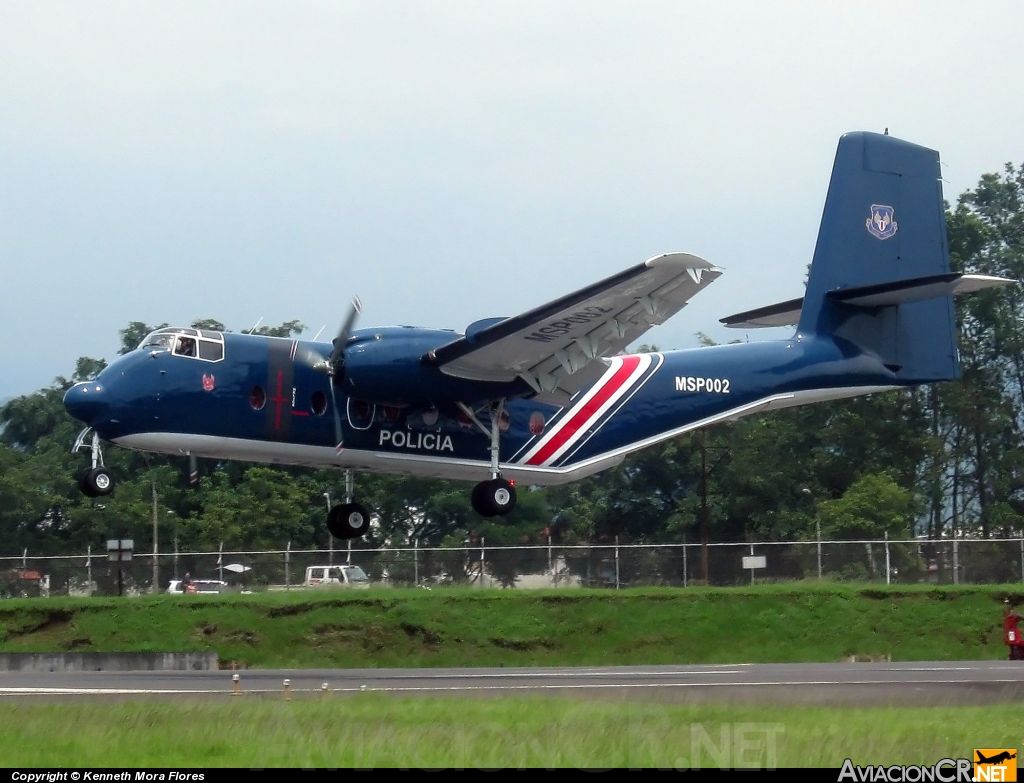
M 383 348 L 393 334 L 366 344 Z M 524 386 L 481 389 L 417 360 L 450 341 L 450 332 L 398 334 L 412 349 L 392 351 L 390 361 L 383 351 L 372 356 L 366 365 L 376 375 L 360 374 L 358 344 L 349 350 L 336 393 L 340 449 L 332 382 L 314 366 L 323 343 L 218 334 L 219 360 L 139 348 L 70 390 L 67 404 L 104 440 L 143 451 L 480 480 L 489 437 L 452 400 L 464 390 L 461 401 L 489 427 L 486 399 L 507 396 L 502 474 L 544 485 L 591 475 L 715 422 L 904 383 L 831 338 L 794 337 L 604 359 L 604 374 L 558 407 L 523 398 Z M 393 403 L 372 401 L 378 387 L 392 390 Z

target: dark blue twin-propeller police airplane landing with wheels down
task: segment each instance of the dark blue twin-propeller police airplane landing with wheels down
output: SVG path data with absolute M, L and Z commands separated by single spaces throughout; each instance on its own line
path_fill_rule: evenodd
M 74 449 L 91 452 L 80 488 L 114 490 L 105 442 L 343 470 L 338 538 L 370 527 L 353 471 L 474 481 L 473 509 L 504 516 L 519 483 L 574 481 L 691 430 L 956 379 L 953 296 L 1016 281 L 950 271 L 938 153 L 868 132 L 839 141 L 804 296 L 722 318 L 795 332 L 625 352 L 722 272 L 667 253 L 463 333 L 354 329 L 358 300 L 330 344 L 157 330 L 66 393 L 86 425 Z

